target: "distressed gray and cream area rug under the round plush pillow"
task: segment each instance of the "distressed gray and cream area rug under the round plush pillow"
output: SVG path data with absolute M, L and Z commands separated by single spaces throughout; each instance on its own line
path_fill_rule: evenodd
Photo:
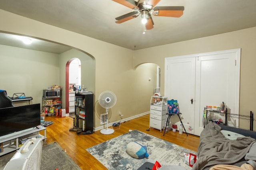
M 148 158 L 136 159 L 126 152 L 126 145 L 134 141 L 142 142 L 146 145 L 149 154 Z M 125 133 L 86 150 L 108 170 L 137 170 L 145 162 L 154 163 L 156 160 L 161 165 L 179 165 L 191 170 L 192 168 L 184 162 L 184 152 L 197 154 L 192 150 L 137 130 Z

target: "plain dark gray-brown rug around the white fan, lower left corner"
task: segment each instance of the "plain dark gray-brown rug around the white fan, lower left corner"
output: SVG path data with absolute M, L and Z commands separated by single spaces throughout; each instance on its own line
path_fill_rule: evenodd
M 0 170 L 16 152 L 11 152 L 0 157 Z M 58 143 L 44 145 L 42 149 L 41 170 L 81 170 L 80 167 L 66 154 Z

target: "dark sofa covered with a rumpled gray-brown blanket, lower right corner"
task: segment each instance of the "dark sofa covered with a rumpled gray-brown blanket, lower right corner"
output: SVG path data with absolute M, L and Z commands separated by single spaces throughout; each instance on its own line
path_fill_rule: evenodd
M 255 150 L 256 132 L 210 122 L 200 135 L 198 160 L 192 170 L 209 170 L 219 164 L 256 167 Z

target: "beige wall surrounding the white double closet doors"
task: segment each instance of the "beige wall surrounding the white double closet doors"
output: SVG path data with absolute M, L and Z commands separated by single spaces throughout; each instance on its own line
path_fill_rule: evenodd
M 134 65 L 145 62 L 158 64 L 162 68 L 161 93 L 164 94 L 165 57 L 238 48 L 241 48 L 240 114 L 250 115 L 250 111 L 256 113 L 256 27 L 138 50 L 134 52 Z M 240 119 L 240 128 L 249 129 L 249 121 Z

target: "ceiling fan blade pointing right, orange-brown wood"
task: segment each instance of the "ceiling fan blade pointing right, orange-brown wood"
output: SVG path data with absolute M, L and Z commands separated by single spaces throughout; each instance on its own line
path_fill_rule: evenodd
M 154 11 L 158 11 L 158 14 L 153 14 L 154 16 L 179 18 L 183 15 L 184 6 L 157 6 Z

